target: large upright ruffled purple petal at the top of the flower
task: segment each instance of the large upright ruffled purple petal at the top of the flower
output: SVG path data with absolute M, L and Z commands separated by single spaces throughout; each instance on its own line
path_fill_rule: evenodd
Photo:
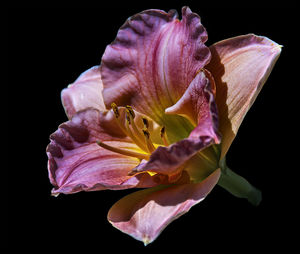
M 161 124 L 164 110 L 182 96 L 210 59 L 205 28 L 197 14 L 182 9 L 146 10 L 129 18 L 102 57 L 103 97 L 131 105 Z

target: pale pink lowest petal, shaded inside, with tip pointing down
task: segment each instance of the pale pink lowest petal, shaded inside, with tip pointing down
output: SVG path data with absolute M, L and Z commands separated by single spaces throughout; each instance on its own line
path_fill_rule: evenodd
M 173 220 L 201 202 L 219 177 L 218 169 L 197 184 L 158 186 L 132 193 L 115 203 L 107 218 L 114 227 L 147 245 Z

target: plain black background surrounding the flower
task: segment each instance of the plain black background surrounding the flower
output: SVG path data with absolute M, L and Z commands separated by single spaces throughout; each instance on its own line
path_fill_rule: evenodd
M 208 31 L 207 45 L 255 33 L 282 44 L 282 54 L 247 114 L 227 156 L 229 167 L 262 190 L 258 207 L 217 186 L 206 200 L 144 247 L 114 229 L 108 209 L 132 190 L 50 196 L 45 148 L 66 121 L 60 91 L 98 65 L 125 20 L 144 9 L 183 4 L 9 9 L 7 146 L 2 171 L 8 207 L 6 247 L 44 252 L 267 252 L 298 249 L 298 85 L 296 16 L 288 8 L 214 8 L 189 4 Z M 297 29 L 298 30 L 298 29 Z M 295 31 L 297 31 L 295 30 Z M 295 68 L 296 67 L 296 68 Z M 298 231 L 298 232 L 297 232 Z

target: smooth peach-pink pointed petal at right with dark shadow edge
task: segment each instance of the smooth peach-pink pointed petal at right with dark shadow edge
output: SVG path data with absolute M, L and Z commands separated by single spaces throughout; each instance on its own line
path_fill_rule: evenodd
M 224 157 L 278 59 L 281 46 L 266 37 L 248 34 L 220 41 L 210 50 L 212 59 L 206 68 L 216 82 Z

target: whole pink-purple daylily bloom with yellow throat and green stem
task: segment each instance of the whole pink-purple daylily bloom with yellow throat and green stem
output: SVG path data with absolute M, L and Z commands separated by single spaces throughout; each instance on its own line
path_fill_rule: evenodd
M 69 121 L 47 147 L 53 195 L 147 188 L 119 200 L 109 222 L 148 244 L 219 183 L 258 204 L 226 153 L 281 47 L 238 36 L 205 46 L 188 7 L 129 18 L 101 65 L 61 93 Z

